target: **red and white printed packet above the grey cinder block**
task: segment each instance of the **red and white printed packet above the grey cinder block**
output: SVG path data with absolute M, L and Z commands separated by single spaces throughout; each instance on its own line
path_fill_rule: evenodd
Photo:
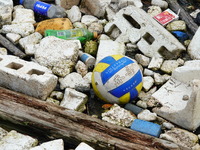
M 153 18 L 157 20 L 161 25 L 165 26 L 171 21 L 178 20 L 179 16 L 175 14 L 172 10 L 167 9 L 162 13 L 154 16 Z

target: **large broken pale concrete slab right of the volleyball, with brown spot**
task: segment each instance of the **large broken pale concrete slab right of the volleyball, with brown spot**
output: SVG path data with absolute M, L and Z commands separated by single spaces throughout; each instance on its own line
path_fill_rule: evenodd
M 154 108 L 153 111 L 183 128 L 194 131 L 200 125 L 199 89 L 200 80 L 183 83 L 171 78 L 152 94 L 152 97 L 162 104 L 162 107 Z

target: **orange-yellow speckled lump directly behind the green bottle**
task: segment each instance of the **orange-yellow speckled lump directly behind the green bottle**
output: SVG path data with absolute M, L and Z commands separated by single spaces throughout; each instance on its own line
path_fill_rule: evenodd
M 53 18 L 39 22 L 35 31 L 44 35 L 44 31 L 47 29 L 68 30 L 72 28 L 72 22 L 68 18 Z

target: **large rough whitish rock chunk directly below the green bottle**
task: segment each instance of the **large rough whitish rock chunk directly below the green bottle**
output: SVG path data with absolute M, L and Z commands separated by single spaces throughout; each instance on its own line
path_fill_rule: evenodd
M 55 75 L 64 77 L 69 74 L 78 59 L 79 47 L 73 40 L 63 40 L 53 36 L 41 40 L 35 51 L 35 60 Z

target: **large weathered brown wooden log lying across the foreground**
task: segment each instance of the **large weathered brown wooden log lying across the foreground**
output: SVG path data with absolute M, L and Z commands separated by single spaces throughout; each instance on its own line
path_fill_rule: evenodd
M 180 146 L 89 115 L 0 87 L 0 118 L 32 126 L 77 146 L 81 141 L 98 149 L 178 150 Z

